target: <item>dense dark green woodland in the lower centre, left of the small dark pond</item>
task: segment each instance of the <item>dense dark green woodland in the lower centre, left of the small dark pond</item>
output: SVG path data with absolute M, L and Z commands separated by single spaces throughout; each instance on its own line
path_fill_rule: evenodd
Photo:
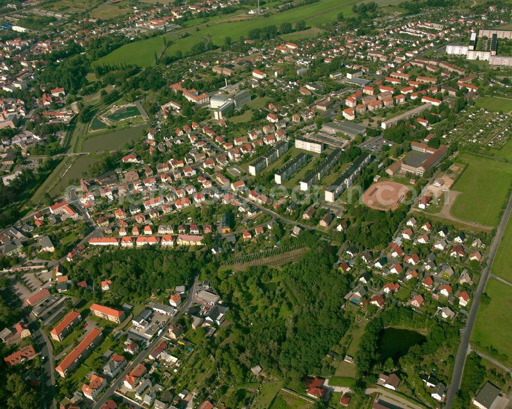
M 340 294 L 348 291 L 348 278 L 333 270 L 330 248 L 304 233 L 310 250 L 300 262 L 233 275 L 221 270 L 211 279 L 232 306 L 227 318 L 232 325 L 219 331 L 216 358 L 234 382 L 261 365 L 300 390 L 304 376 L 321 372 L 323 357 L 347 330 Z M 222 342 L 226 338 L 229 342 Z

